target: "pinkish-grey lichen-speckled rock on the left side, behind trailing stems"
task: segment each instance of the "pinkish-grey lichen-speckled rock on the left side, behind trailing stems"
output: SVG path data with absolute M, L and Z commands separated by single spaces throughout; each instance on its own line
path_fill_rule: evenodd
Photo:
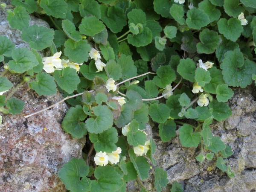
M 0 24 L 0 35 L 6 35 L 16 47 L 27 47 L 20 38 L 19 30 L 12 29 L 3 17 Z M 48 26 L 35 17 L 32 17 L 30 24 Z M 0 71 L 3 71 L 3 64 L 0 67 Z M 14 87 L 21 80 L 17 74 L 6 73 L 5 77 L 12 81 Z M 3 116 L 3 123 L 0 125 L 0 191 L 66 192 L 57 176 L 58 171 L 72 157 L 82 157 L 85 144 L 85 138 L 72 139 L 61 128 L 67 105 L 61 103 L 27 119 L 23 117 L 46 108 L 63 97 L 60 94 L 38 96 L 26 83 L 14 96 L 25 102 L 25 108 L 15 116 L 0 114 Z

